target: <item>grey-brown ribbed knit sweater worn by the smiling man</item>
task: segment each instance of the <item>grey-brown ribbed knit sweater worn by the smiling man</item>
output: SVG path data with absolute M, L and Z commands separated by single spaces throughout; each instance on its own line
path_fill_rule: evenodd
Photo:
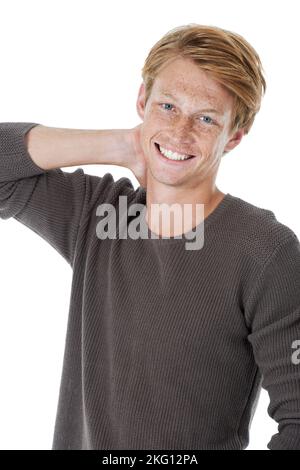
M 245 449 L 263 386 L 279 424 L 268 448 L 300 449 L 295 233 L 227 193 L 200 250 L 185 237 L 100 239 L 97 206 L 146 204 L 146 191 L 110 173 L 44 171 L 25 145 L 34 125 L 0 125 L 0 216 L 73 270 L 52 448 Z

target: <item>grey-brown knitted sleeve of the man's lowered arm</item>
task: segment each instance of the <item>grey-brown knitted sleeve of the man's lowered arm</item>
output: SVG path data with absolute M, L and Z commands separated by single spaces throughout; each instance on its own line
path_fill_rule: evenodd
M 248 298 L 250 341 L 278 423 L 270 450 L 300 450 L 300 244 L 291 235 L 276 246 Z

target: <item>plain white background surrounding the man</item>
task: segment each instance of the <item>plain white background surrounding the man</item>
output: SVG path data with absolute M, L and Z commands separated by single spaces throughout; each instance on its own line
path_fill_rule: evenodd
M 217 186 L 300 237 L 299 18 L 296 0 L 1 1 L 0 120 L 77 129 L 131 128 L 152 45 L 171 28 L 215 25 L 258 51 L 267 93 L 249 135 L 223 158 Z M 74 171 L 69 167 L 66 171 Z M 130 170 L 83 166 L 116 178 Z M 50 449 L 72 271 L 43 239 L 0 220 L 0 448 Z M 248 449 L 267 449 L 277 424 L 262 390 Z

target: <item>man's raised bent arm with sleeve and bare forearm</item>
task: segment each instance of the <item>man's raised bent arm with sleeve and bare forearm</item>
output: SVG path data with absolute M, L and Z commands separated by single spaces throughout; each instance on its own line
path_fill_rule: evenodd
M 31 228 L 73 265 L 81 222 L 92 201 L 108 201 L 114 180 L 110 173 L 99 177 L 82 168 L 71 173 L 60 167 L 108 163 L 142 168 L 130 166 L 130 158 L 138 158 L 130 146 L 134 139 L 122 140 L 125 133 L 0 123 L 0 218 L 15 218 Z

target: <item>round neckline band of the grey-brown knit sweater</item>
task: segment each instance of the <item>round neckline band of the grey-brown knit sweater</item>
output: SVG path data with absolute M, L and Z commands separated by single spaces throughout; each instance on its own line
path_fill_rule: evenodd
M 145 193 L 145 190 L 142 189 Z M 195 231 L 199 230 L 199 227 L 201 224 L 204 223 L 204 230 L 207 230 L 208 228 L 211 228 L 214 223 L 219 219 L 219 217 L 223 214 L 223 212 L 227 209 L 227 207 L 235 200 L 235 196 L 233 196 L 230 193 L 226 193 L 223 199 L 219 202 L 217 207 L 207 216 L 205 219 L 200 222 L 200 224 L 196 225 L 193 227 L 189 232 L 182 234 L 182 235 L 176 235 L 176 236 L 170 236 L 170 237 L 162 237 L 161 235 L 157 235 L 155 232 L 152 232 L 150 230 L 146 219 L 144 217 L 144 221 L 146 224 L 146 232 L 147 232 L 147 239 L 151 241 L 155 241 L 158 243 L 165 243 L 166 241 L 168 242 L 173 242 L 173 243 L 183 243 L 186 242 L 187 240 L 191 240 L 193 238 L 193 234 Z M 152 235 L 153 234 L 153 235 Z M 153 238 L 152 238 L 153 237 Z

